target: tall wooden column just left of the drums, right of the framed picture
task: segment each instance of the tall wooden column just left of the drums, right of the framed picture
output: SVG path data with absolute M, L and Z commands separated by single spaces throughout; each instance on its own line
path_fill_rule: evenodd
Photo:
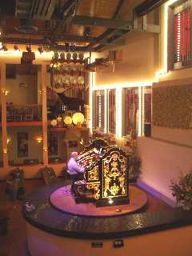
M 47 110 L 46 110 L 46 65 L 42 64 L 42 138 L 43 138 L 43 162 L 48 165 L 47 145 Z

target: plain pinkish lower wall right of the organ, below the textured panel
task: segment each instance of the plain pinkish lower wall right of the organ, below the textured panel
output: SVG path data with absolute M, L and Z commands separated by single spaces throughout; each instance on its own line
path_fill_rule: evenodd
M 142 159 L 142 182 L 174 200 L 170 180 L 178 179 L 181 171 L 192 170 L 192 147 L 141 137 L 138 138 L 138 148 Z

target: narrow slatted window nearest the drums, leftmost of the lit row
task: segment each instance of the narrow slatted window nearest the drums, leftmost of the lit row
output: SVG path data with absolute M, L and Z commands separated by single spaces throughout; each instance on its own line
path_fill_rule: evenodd
M 105 91 L 95 90 L 93 93 L 93 128 L 104 132 L 104 118 L 105 118 Z

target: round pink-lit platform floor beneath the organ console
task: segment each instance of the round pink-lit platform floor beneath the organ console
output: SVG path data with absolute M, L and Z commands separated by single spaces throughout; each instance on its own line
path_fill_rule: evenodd
M 130 186 L 130 204 L 121 206 L 96 207 L 94 202 L 76 203 L 73 195 L 70 193 L 70 185 L 60 187 L 50 195 L 50 203 L 58 210 L 62 210 L 68 214 L 79 216 L 118 216 L 122 214 L 130 214 L 140 210 L 146 205 L 146 193 L 138 189 L 138 187 Z

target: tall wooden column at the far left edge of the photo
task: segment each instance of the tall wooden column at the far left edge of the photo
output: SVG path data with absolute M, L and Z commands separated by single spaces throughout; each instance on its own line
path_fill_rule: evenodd
M 1 63 L 1 98 L 2 98 L 2 161 L 8 166 L 7 130 L 6 130 L 6 64 Z

